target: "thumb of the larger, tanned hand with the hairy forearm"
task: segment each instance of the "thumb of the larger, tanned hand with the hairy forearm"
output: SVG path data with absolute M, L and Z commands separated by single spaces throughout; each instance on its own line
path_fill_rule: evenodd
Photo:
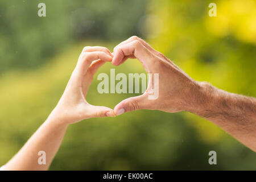
M 119 102 L 114 107 L 115 115 L 120 115 L 126 112 L 146 109 L 146 94 L 142 94 L 141 96 L 126 98 L 125 100 Z

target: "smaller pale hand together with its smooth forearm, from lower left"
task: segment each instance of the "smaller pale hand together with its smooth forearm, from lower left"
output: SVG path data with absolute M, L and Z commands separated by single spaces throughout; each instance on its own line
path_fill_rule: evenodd
M 93 106 L 85 100 L 94 73 L 106 61 L 112 61 L 112 54 L 107 48 L 83 49 L 59 103 L 4 170 L 47 170 L 69 125 L 82 119 L 114 116 L 113 109 Z M 46 164 L 38 163 L 39 151 L 46 152 Z

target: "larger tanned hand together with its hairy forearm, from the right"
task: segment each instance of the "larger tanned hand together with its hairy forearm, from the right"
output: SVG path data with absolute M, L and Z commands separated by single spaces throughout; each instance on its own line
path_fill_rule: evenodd
M 148 85 L 146 92 L 141 96 L 127 98 L 116 105 L 116 115 L 138 109 L 162 110 L 169 113 L 189 111 L 212 121 L 256 151 L 255 98 L 228 93 L 207 82 L 193 80 L 162 53 L 155 51 L 137 36 L 120 43 L 114 48 L 113 55 L 113 65 L 122 64 L 127 58 L 137 58 L 147 73 L 159 74 L 158 98 L 148 99 L 151 90 Z

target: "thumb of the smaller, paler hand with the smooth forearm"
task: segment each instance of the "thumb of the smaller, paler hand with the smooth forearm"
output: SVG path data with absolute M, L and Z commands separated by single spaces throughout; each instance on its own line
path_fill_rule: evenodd
M 86 109 L 87 118 L 101 118 L 114 116 L 115 115 L 113 109 L 110 109 L 109 107 L 90 105 L 90 107 Z

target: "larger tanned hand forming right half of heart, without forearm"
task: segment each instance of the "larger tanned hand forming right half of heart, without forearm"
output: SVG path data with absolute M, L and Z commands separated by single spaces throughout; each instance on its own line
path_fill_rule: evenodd
M 200 84 L 192 80 L 172 61 L 167 59 L 162 53 L 155 51 L 144 40 L 137 36 L 132 36 L 126 41 L 118 44 L 113 52 L 113 65 L 122 64 L 127 58 L 137 58 L 141 61 L 147 73 L 159 74 L 159 96 L 155 100 L 149 100 L 148 95 L 151 90 L 148 85 L 147 90 L 141 96 L 130 97 L 120 102 L 114 108 L 115 114 L 123 111 L 133 111 L 138 109 L 162 110 L 169 113 L 188 110 L 193 105 L 193 96 L 200 94 Z M 154 85 L 155 80 L 152 80 Z

